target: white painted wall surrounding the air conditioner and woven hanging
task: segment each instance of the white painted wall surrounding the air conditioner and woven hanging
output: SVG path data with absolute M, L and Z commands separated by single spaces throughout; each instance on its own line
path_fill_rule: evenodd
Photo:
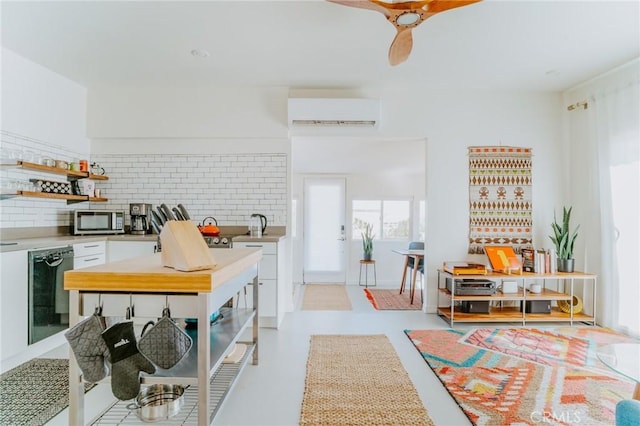
M 547 230 L 554 206 L 561 204 L 561 165 L 566 161 L 559 94 L 439 92 L 416 87 L 364 88 L 358 93 L 381 100 L 381 121 L 375 137 L 427 140 L 424 161 L 429 310 L 434 311 L 437 305 L 436 268 L 444 260 L 470 258 L 468 146 L 502 144 L 533 149 L 534 244 L 549 246 Z M 336 91 L 331 95 L 335 96 Z M 160 146 L 175 142 L 185 144 L 189 150 L 196 146 L 190 138 L 207 138 L 213 144 L 203 144 L 207 150 L 228 138 L 239 142 L 238 149 L 244 146 L 244 138 L 251 138 L 255 144 L 264 140 L 269 145 L 289 136 L 287 97 L 288 91 L 279 88 L 204 88 L 199 92 L 96 90 L 89 93 L 89 133 L 96 138 L 131 138 L 118 146 L 122 154 L 137 152 L 141 146 L 153 152 L 156 143 L 135 139 L 146 137 L 168 138 Z M 246 106 L 232 107 L 240 101 Z M 319 134 L 307 132 L 298 132 L 297 136 Z M 367 135 L 371 135 L 370 130 Z M 333 131 L 325 137 L 340 137 L 340 133 Z M 92 149 L 103 151 L 108 143 L 108 139 L 95 139 Z M 290 148 L 286 149 L 290 153 Z M 295 159 L 292 161 L 295 169 Z

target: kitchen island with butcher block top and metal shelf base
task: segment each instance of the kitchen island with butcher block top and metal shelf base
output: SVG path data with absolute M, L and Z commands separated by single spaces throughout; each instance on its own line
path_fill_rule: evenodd
M 258 263 L 262 250 L 211 250 L 215 267 L 200 271 L 182 272 L 162 266 L 161 254 L 157 253 L 65 272 L 65 289 L 70 290 L 70 327 L 92 315 L 98 306 L 105 317 L 131 314 L 136 325 L 157 320 L 165 307 L 170 308 L 171 317 L 180 324 L 182 318 L 197 318 L 197 329 L 188 330 L 193 346 L 187 356 L 171 369 L 157 368 L 155 374 L 143 373 L 141 377 L 142 386 L 155 383 L 188 386 L 181 410 L 186 414 L 177 415 L 186 416 L 182 424 L 211 424 L 248 360 L 251 358 L 254 365 L 258 364 Z M 253 292 L 253 306 L 240 307 L 242 298 L 234 297 L 247 290 Z M 231 299 L 234 306 L 224 307 Z M 211 314 L 219 309 L 222 319 L 210 325 Z M 252 328 L 253 338 L 242 342 L 247 346 L 243 359 L 238 364 L 223 363 L 248 327 Z M 69 424 L 85 424 L 84 383 L 73 353 L 69 377 Z M 226 383 L 220 383 L 219 377 Z M 190 400 L 197 407 L 190 409 Z M 130 402 L 116 402 L 91 424 L 145 424 L 126 407 Z

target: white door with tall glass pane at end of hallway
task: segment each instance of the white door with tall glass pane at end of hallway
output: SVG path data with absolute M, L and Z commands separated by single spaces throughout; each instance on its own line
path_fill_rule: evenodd
M 305 284 L 345 283 L 345 179 L 304 179 Z

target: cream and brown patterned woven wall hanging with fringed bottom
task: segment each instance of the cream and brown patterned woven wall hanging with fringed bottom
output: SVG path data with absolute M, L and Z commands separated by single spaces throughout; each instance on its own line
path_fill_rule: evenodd
M 469 147 L 469 253 L 532 246 L 531 148 Z

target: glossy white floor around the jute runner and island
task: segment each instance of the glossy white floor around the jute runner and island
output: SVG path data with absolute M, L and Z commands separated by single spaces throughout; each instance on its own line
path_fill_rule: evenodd
M 394 345 L 427 411 L 437 425 L 469 425 L 429 366 L 404 334 L 404 329 L 444 329 L 447 324 L 421 311 L 376 311 L 362 287 L 347 286 L 353 311 L 289 313 L 280 329 L 260 329 L 259 365 L 248 364 L 214 420 L 216 425 L 297 425 L 304 389 L 309 337 L 312 334 L 385 334 Z M 46 356 L 64 357 L 59 348 Z M 85 419 L 95 418 L 113 401 L 108 384 L 85 397 Z M 64 410 L 48 425 L 67 425 Z M 161 423 L 158 423 L 161 424 Z

